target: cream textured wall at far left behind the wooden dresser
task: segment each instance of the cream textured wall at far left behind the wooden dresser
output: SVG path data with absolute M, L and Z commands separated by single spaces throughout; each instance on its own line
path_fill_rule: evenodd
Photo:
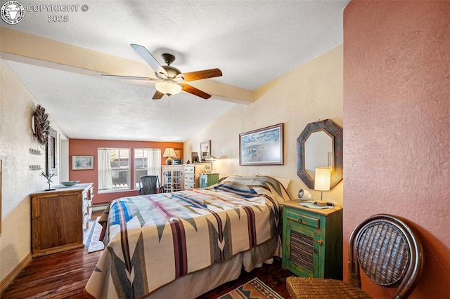
M 0 281 L 28 256 L 31 249 L 30 193 L 44 190 L 46 180 L 31 171 L 30 164 L 40 164 L 45 171 L 45 147 L 34 140 L 32 115 L 36 100 L 15 77 L 13 71 L 0 60 L 0 157 L 2 165 Z M 51 122 L 52 128 L 60 128 Z M 30 148 L 41 155 L 30 154 Z M 59 148 L 59 147 L 58 147 Z M 53 177 L 59 184 L 59 177 Z

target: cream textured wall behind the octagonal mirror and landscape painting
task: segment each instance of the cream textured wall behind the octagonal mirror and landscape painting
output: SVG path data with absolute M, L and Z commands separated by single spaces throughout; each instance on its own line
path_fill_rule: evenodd
M 185 159 L 199 151 L 200 142 L 211 140 L 212 154 L 221 158 L 212 168 L 220 177 L 260 173 L 290 178 L 288 192 L 297 198 L 298 190 L 307 189 L 297 176 L 297 138 L 312 121 L 332 119 L 342 126 L 342 93 L 341 45 L 258 88 L 254 103 L 238 105 L 195 134 L 184 143 Z M 280 123 L 284 124 L 284 165 L 239 166 L 239 133 Z M 323 198 L 342 204 L 342 185 L 324 192 Z M 320 197 L 319 191 L 311 194 Z

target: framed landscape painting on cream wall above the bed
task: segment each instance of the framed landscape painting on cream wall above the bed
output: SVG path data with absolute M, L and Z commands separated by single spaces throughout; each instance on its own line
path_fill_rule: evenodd
M 239 134 L 239 165 L 283 165 L 283 124 Z

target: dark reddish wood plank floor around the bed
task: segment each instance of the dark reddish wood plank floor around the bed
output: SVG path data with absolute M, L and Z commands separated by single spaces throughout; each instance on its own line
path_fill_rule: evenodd
M 87 253 L 86 248 L 79 248 L 34 258 L 0 294 L 0 298 L 86 298 L 83 289 L 100 255 L 101 251 Z M 292 275 L 281 267 L 281 260 L 275 260 L 272 265 L 264 264 L 250 273 L 243 271 L 238 279 L 199 298 L 217 298 L 254 277 L 283 298 L 290 298 L 285 281 Z

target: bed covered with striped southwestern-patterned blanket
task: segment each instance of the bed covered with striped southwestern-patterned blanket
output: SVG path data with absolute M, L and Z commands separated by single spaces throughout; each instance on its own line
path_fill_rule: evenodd
M 123 197 L 101 216 L 94 298 L 195 298 L 281 257 L 278 180 L 230 176 L 205 189 Z

